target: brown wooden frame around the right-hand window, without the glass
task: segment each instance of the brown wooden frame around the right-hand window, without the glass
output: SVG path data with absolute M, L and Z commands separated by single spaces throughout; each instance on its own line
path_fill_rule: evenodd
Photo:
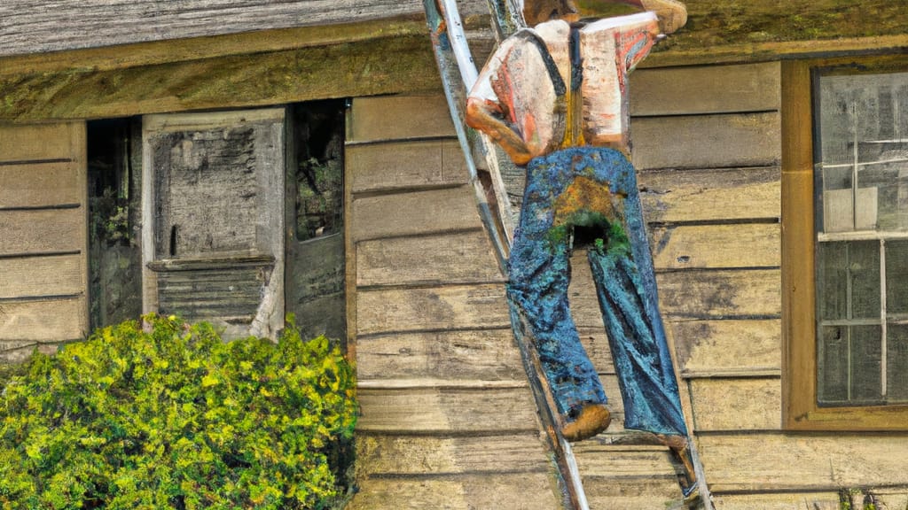
M 782 62 L 782 424 L 787 430 L 908 429 L 908 405 L 819 407 L 814 232 L 814 83 L 820 73 L 908 72 L 904 55 Z

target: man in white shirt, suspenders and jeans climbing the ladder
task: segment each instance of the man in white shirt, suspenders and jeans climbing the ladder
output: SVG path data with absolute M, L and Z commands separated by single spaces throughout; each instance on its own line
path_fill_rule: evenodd
M 493 11 L 504 1 L 490 2 Z M 588 259 L 625 402 L 625 427 L 652 432 L 671 448 L 692 498 L 696 475 L 657 309 L 636 171 L 628 161 L 627 106 L 627 75 L 653 44 L 685 24 L 686 9 L 676 0 L 602 1 L 649 12 L 581 22 L 572 0 L 526 0 L 522 14 L 534 28 L 502 41 L 475 84 L 464 79 L 470 87 L 465 117 L 526 167 L 507 262 L 508 299 L 515 327 L 527 329 L 536 349 L 560 436 L 595 436 L 610 421 L 605 392 L 568 307 L 570 239 L 582 227 L 596 232 Z M 452 2 L 444 4 L 456 11 Z M 445 44 L 433 41 L 439 54 Z M 458 66 L 466 76 L 461 56 Z M 444 79 L 441 57 L 439 65 Z

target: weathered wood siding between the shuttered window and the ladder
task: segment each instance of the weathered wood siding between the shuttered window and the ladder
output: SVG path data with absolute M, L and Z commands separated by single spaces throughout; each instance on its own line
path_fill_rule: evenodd
M 345 161 L 362 406 L 352 507 L 560 507 L 444 97 L 354 99 Z

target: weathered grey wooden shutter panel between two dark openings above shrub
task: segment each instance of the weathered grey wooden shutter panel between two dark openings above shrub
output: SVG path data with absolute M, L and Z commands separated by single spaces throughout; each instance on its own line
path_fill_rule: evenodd
M 285 114 L 143 119 L 143 308 L 226 338 L 283 327 Z

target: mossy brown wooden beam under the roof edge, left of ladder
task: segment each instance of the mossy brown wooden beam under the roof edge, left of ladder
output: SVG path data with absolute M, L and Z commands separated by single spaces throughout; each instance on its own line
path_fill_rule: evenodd
M 439 85 L 429 38 L 391 34 L 367 41 L 123 68 L 20 70 L 0 75 L 0 97 L 4 97 L 0 122 L 271 105 L 437 90 Z

